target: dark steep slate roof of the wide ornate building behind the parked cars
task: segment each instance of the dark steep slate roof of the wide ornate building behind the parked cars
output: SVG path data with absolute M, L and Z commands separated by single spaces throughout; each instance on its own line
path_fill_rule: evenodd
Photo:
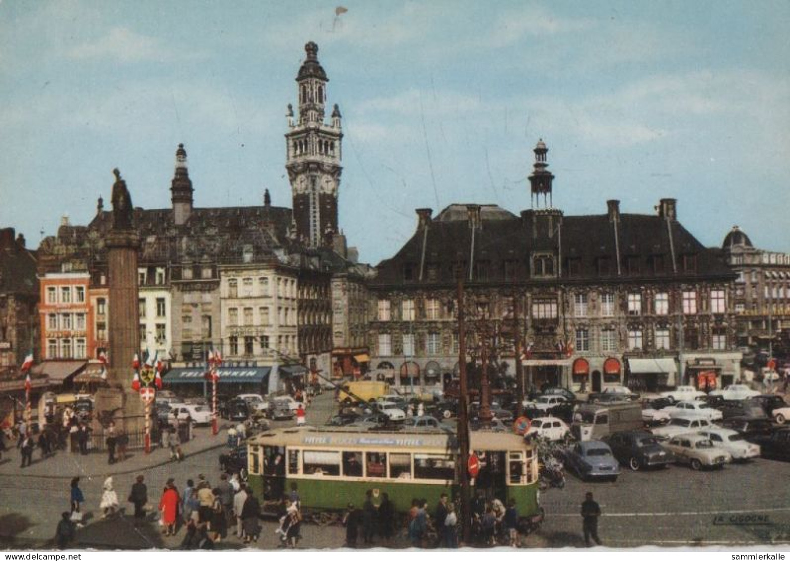
M 483 212 L 483 208 L 489 211 Z M 506 282 L 503 278 L 502 264 L 517 261 L 517 279 L 521 282 L 538 284 L 555 283 L 557 279 L 529 279 L 529 258 L 532 251 L 554 249 L 556 237 L 532 237 L 531 220 L 517 217 L 508 211 L 495 211 L 495 205 L 481 208 L 482 227 L 475 232 L 474 261 L 488 262 L 488 280 L 483 283 Z M 429 265 L 438 266 L 436 281 L 419 282 L 419 264 L 423 253 L 423 230 L 417 229 L 401 249 L 390 259 L 378 264 L 378 275 L 371 282 L 373 286 L 404 284 L 453 283 L 453 264 L 464 262 L 464 278 L 468 282 L 468 267 L 472 251 L 472 228 L 468 224 L 467 213 L 461 212 L 462 205 L 450 205 L 438 217 L 428 223 L 427 245 L 425 250 L 426 271 Z M 536 211 L 540 212 L 540 211 Z M 486 216 L 495 216 L 487 219 Z M 639 264 L 639 274 L 617 275 L 615 230 L 608 215 L 570 215 L 562 217 L 562 282 L 577 280 L 638 281 L 644 279 L 730 279 L 733 274 L 720 261 L 716 252 L 706 249 L 690 232 L 677 221 L 672 221 L 672 242 L 678 273 L 672 270 L 672 251 L 666 220 L 657 215 L 621 214 L 617 224 L 621 263 L 626 257 L 635 257 Z M 683 271 L 683 255 L 697 256 L 696 273 Z M 664 256 L 664 270 L 653 274 L 651 256 Z M 598 274 L 598 262 L 608 257 L 611 273 L 605 277 Z M 579 271 L 570 275 L 567 267 L 569 259 L 577 259 Z M 404 282 L 404 266 L 410 264 L 414 270 L 414 280 Z M 510 280 L 508 283 L 512 282 Z

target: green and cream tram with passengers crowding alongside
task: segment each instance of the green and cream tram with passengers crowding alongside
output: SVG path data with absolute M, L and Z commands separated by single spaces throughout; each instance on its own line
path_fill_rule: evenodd
M 470 449 L 480 458 L 476 491 L 507 503 L 516 500 L 524 521 L 542 517 L 535 447 L 521 436 L 472 432 Z M 285 428 L 247 440 L 248 482 L 256 496 L 275 503 L 299 490 L 308 511 L 340 511 L 348 503 L 374 502 L 388 493 L 398 512 L 412 499 L 431 507 L 442 493 L 457 496 L 457 438 L 445 432 L 367 432 L 348 428 Z

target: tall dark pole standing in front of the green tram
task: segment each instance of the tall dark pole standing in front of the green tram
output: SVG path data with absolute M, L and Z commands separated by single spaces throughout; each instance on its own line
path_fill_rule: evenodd
M 458 478 L 461 484 L 461 521 L 464 542 L 472 539 L 472 495 L 469 487 L 469 417 L 468 386 L 466 383 L 466 326 L 464 318 L 464 281 L 458 279 L 458 374 L 460 388 L 458 396 L 458 447 L 461 456 L 458 461 Z

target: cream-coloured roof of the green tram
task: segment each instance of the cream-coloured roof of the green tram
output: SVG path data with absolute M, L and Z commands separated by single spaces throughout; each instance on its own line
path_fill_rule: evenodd
M 523 450 L 527 446 L 521 436 L 503 432 L 469 432 L 472 450 Z M 331 446 L 371 448 L 440 448 L 457 447 L 454 432 L 359 431 L 349 428 L 279 428 L 261 432 L 247 439 L 258 446 Z

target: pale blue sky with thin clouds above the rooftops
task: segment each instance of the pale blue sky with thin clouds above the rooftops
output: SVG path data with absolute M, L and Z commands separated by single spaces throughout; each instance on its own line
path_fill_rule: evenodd
M 342 6 L 346 11 L 337 9 Z M 416 208 L 530 208 L 542 138 L 566 215 L 678 200 L 705 245 L 737 224 L 790 252 L 790 2 L 0 0 L 0 226 L 28 247 L 62 216 L 291 206 L 285 110 L 318 43 L 343 114 L 340 227 L 393 256 Z

